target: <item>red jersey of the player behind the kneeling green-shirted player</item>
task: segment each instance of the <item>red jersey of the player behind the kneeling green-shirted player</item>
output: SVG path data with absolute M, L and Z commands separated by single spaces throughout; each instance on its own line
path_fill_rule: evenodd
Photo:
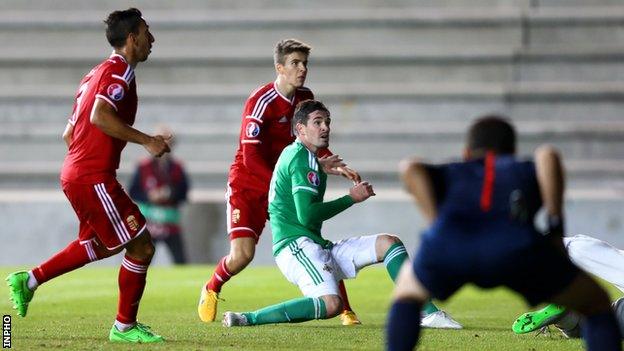
M 314 99 L 308 88 L 299 88 L 288 99 L 268 83 L 256 89 L 245 102 L 238 149 L 230 167 L 228 182 L 269 191 L 275 163 L 282 150 L 295 141 L 291 121 L 297 104 Z

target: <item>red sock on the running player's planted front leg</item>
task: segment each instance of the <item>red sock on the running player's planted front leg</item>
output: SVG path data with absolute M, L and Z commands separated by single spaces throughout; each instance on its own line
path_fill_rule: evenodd
M 117 321 L 125 324 L 136 322 L 139 302 L 145 289 L 148 262 L 124 256 L 119 269 L 119 304 L 117 305 Z

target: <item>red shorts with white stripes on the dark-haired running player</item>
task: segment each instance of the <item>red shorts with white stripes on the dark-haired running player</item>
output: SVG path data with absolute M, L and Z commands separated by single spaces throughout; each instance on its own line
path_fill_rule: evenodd
M 145 217 L 116 179 L 98 184 L 61 181 L 61 185 L 80 220 L 81 241 L 97 236 L 112 250 L 145 230 Z

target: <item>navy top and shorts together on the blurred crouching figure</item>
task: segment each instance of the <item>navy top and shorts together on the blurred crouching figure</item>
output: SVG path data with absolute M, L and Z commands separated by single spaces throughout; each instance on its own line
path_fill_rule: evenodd
M 438 215 L 413 270 L 433 297 L 472 282 L 507 286 L 535 305 L 574 279 L 578 269 L 535 229 L 542 201 L 533 162 L 492 154 L 428 169 Z

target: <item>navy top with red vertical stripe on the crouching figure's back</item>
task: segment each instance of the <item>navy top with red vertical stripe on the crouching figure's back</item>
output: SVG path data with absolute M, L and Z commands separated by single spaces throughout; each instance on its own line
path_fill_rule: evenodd
M 438 215 L 428 235 L 496 235 L 520 245 L 537 235 L 542 201 L 534 163 L 507 155 L 488 160 L 429 167 Z

